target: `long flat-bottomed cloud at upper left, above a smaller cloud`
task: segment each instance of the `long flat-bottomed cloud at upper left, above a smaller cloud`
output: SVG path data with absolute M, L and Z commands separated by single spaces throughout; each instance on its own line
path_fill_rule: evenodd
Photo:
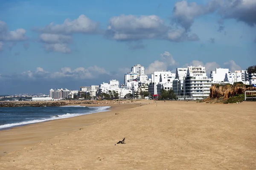
M 35 31 L 49 34 L 92 34 L 98 31 L 98 26 L 98 23 L 82 14 L 75 20 L 66 19 L 63 24 L 56 25 L 50 23 L 44 28 L 35 28 Z

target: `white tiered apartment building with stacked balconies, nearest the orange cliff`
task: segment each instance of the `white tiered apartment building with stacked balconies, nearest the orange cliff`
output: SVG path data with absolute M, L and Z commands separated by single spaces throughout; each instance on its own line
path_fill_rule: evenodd
M 205 99 L 210 94 L 212 80 L 206 75 L 205 67 L 189 66 L 184 83 L 185 94 L 190 99 Z

